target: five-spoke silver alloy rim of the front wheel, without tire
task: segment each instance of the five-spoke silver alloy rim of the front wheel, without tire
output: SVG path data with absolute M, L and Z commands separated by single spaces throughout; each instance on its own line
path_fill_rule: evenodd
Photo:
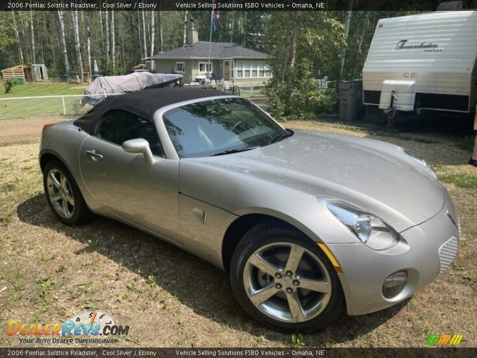
M 330 274 L 310 250 L 289 242 L 262 246 L 245 263 L 243 284 L 250 301 L 282 322 L 318 316 L 331 297 Z

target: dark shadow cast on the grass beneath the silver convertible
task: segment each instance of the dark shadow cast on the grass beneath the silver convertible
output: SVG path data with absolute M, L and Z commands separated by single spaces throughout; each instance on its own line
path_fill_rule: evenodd
M 248 332 L 257 343 L 291 345 L 291 335 L 267 329 L 251 319 L 232 297 L 229 276 L 205 261 L 117 221 L 97 217 L 89 224 L 66 226 L 52 213 L 44 194 L 17 206 L 18 218 L 27 224 L 54 230 L 84 245 L 76 255 L 97 252 L 142 275 L 154 276 L 158 286 L 170 292 L 196 314 L 235 330 Z M 68 250 L 65 248 L 65 250 Z M 331 346 L 366 335 L 395 316 L 406 301 L 387 310 L 359 317 L 344 313 L 325 329 L 304 335 L 306 346 Z

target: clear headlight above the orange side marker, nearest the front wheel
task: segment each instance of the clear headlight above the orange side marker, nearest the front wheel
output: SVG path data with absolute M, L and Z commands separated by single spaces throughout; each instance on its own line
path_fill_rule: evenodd
M 383 220 L 342 200 L 325 199 L 326 208 L 356 237 L 373 250 L 386 250 L 395 246 L 399 234 Z

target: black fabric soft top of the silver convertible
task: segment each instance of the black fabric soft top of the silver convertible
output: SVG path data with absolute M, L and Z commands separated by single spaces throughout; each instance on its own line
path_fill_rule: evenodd
M 180 87 L 143 89 L 109 96 L 73 123 L 88 133 L 94 133 L 96 125 L 103 114 L 112 109 L 129 111 L 142 118 L 153 120 L 154 113 L 159 108 L 169 104 L 191 99 L 228 95 L 216 89 L 184 89 Z

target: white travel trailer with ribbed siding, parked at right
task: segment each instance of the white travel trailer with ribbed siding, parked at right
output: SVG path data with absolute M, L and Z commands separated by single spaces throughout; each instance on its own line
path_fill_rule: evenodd
M 474 112 L 476 59 L 477 11 L 381 19 L 363 68 L 363 102 L 383 110 Z

